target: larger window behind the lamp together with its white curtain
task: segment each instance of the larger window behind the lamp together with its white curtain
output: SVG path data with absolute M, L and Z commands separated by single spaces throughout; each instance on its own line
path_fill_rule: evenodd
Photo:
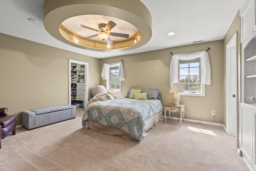
M 170 63 L 170 87 L 180 83 L 179 95 L 205 97 L 205 85 L 211 83 L 211 67 L 207 51 L 174 54 Z

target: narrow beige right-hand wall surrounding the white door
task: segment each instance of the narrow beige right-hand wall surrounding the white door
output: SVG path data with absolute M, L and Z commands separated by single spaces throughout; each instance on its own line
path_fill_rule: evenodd
M 240 95 L 241 95 L 241 44 L 240 44 L 240 15 L 239 15 L 239 11 L 236 14 L 236 17 L 234 18 L 234 21 L 232 22 L 225 38 L 224 38 L 224 54 L 223 56 L 225 56 L 225 58 L 223 59 L 223 63 L 224 63 L 224 70 L 223 70 L 223 74 L 224 74 L 224 78 L 223 78 L 223 123 L 226 127 L 226 45 L 228 44 L 228 42 L 230 41 L 230 39 L 234 36 L 234 34 L 237 32 L 237 49 L 238 49 L 238 60 L 237 60 L 237 79 L 238 79 L 238 84 L 237 84 L 237 88 L 238 88 L 238 101 L 237 101 L 237 111 L 238 113 L 240 113 Z

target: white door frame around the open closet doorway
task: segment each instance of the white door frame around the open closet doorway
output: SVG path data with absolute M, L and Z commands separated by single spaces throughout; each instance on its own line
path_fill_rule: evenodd
M 88 102 L 88 63 L 87 62 L 82 62 L 82 61 L 77 61 L 77 60 L 71 60 L 69 59 L 69 69 L 68 69 L 68 78 L 69 78 L 69 86 L 68 86 L 68 92 L 69 92 L 69 104 L 71 105 L 71 63 L 76 63 L 76 64 L 82 64 L 84 65 L 84 106 L 86 106 Z M 85 109 L 85 107 L 84 107 Z

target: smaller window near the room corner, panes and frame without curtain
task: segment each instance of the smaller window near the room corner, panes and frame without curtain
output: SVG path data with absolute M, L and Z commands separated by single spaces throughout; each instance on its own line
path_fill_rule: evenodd
M 121 81 L 118 78 L 118 67 L 110 67 L 110 79 L 107 80 L 108 92 L 121 92 Z

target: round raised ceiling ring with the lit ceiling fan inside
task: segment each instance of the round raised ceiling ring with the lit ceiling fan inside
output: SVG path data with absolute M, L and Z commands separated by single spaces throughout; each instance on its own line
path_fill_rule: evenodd
M 152 37 L 150 11 L 140 0 L 116 2 L 45 0 L 44 27 L 57 40 L 85 50 L 119 52 L 143 46 Z M 105 43 L 111 48 L 106 50 Z

